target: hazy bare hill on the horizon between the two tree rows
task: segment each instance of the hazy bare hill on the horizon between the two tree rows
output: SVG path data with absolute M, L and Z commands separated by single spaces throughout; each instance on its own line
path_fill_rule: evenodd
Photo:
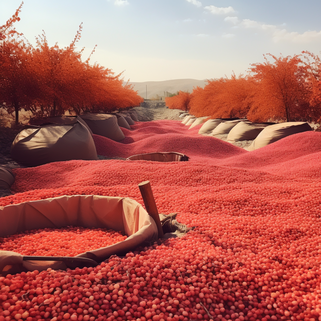
M 126 82 L 125 82 L 126 83 Z M 124 83 L 124 84 L 125 84 Z M 206 85 L 205 80 L 197 79 L 171 79 L 164 81 L 146 81 L 146 82 L 129 82 L 134 86 L 134 90 L 138 91 L 138 94 L 146 99 L 146 85 L 147 85 L 147 99 L 152 97 L 156 98 L 156 95 L 163 95 L 164 91 L 175 93 L 176 91 L 193 91 L 193 87 L 200 86 L 204 88 Z

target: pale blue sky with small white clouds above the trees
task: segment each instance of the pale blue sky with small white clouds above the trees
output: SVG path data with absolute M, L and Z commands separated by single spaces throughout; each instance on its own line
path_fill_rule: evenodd
M 0 0 L 0 25 L 20 0 Z M 246 74 L 263 54 L 320 56 L 320 0 L 24 0 L 17 31 L 68 46 L 131 82 Z

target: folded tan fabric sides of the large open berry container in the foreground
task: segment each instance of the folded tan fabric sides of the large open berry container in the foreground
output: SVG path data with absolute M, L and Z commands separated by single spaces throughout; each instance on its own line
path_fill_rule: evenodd
M 72 195 L 0 207 L 0 237 L 27 230 L 81 226 L 123 231 L 126 240 L 85 252 L 98 263 L 109 256 L 134 250 L 145 241 L 157 239 L 157 226 L 143 206 L 126 197 Z M 32 244 L 30 244 L 32 246 Z M 0 251 L 0 273 L 6 265 L 22 264 L 29 271 L 66 269 L 59 261 L 22 261 L 22 255 Z

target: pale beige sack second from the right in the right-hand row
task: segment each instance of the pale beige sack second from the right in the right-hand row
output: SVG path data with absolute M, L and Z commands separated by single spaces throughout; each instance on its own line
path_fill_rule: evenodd
M 253 140 L 269 125 L 240 121 L 227 135 L 227 142 L 235 143 L 243 140 Z

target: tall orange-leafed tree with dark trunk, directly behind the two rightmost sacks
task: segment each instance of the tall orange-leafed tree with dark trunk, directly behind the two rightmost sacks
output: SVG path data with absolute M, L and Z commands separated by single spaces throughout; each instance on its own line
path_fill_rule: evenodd
M 250 72 L 256 81 L 247 118 L 252 121 L 296 121 L 306 119 L 309 108 L 308 67 L 299 55 L 280 56 L 270 62 L 252 64 Z

